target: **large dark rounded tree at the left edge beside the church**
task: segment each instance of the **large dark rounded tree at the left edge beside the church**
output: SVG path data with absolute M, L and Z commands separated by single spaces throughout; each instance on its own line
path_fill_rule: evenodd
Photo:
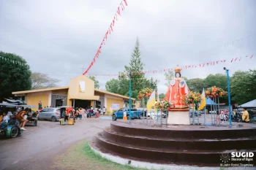
M 31 71 L 19 55 L 0 51 L 0 101 L 12 97 L 13 91 L 31 89 Z

